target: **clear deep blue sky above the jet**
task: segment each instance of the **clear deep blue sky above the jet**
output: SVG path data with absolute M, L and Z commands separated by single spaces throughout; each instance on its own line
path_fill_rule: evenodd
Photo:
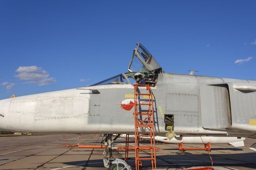
M 256 80 L 255 9 L 255 0 L 0 0 L 0 99 L 126 72 L 136 42 L 165 72 Z

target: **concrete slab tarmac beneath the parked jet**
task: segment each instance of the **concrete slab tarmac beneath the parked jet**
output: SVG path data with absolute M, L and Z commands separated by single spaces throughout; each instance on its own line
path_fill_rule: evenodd
M 132 139 L 131 139 L 132 140 Z M 63 145 L 99 145 L 95 135 L 43 135 L 0 137 L 0 170 L 106 170 L 102 162 L 102 149 L 67 148 Z M 228 144 L 212 144 L 210 156 L 215 170 L 256 170 L 256 153 L 248 149 L 256 139 L 247 138 L 245 146 L 234 148 Z M 146 142 L 145 142 L 146 143 Z M 124 146 L 125 139 L 118 138 L 115 146 Z M 133 144 L 131 144 L 133 145 Z M 142 143 L 143 145 L 143 143 Z M 157 143 L 158 170 L 183 170 L 211 166 L 206 151 L 179 152 L 177 144 Z M 203 147 L 184 144 L 187 148 Z M 142 152 L 148 156 L 148 152 Z M 114 157 L 124 158 L 124 151 Z M 128 160 L 134 166 L 134 151 Z M 141 170 L 150 170 L 150 162 L 144 162 Z

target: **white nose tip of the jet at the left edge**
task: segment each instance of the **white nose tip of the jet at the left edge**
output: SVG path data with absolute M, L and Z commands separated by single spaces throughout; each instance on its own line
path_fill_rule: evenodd
M 0 129 L 7 129 L 7 117 L 10 99 L 0 100 Z

